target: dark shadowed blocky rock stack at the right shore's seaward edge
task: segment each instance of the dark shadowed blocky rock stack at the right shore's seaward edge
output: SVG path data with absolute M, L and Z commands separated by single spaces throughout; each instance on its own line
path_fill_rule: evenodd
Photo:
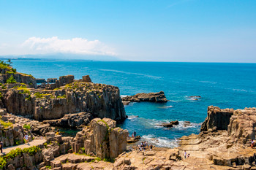
M 234 109 L 219 109 L 219 107 L 208 107 L 207 117 L 201 126 L 201 131 L 208 131 L 210 128 L 217 127 L 218 130 L 227 130 L 230 123 L 230 117 Z

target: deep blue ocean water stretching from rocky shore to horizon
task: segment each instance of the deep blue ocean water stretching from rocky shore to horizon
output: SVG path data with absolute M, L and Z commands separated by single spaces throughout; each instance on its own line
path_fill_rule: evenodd
M 37 78 L 89 74 L 93 82 L 116 85 L 121 95 L 163 90 L 165 104 L 132 103 L 125 106 L 129 118 L 122 128 L 159 147 L 174 147 L 181 136 L 198 134 L 207 107 L 241 109 L 256 107 L 256 63 L 169 63 L 129 61 L 13 60 L 18 72 Z M 198 101 L 189 96 L 201 96 Z M 173 128 L 159 123 L 178 120 Z M 184 121 L 191 126 L 184 127 Z

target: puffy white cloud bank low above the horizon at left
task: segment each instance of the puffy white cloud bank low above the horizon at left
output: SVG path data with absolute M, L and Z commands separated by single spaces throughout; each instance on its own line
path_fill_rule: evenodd
M 21 45 L 30 54 L 45 53 L 75 53 L 85 55 L 116 55 L 112 48 L 99 40 L 73 38 L 59 39 L 57 36 L 51 38 L 30 37 Z

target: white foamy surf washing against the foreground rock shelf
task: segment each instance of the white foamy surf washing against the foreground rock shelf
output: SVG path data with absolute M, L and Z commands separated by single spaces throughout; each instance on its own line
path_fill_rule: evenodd
M 153 144 L 157 147 L 178 147 L 178 140 L 177 139 L 168 139 L 166 137 L 157 137 L 152 134 L 143 135 L 142 141 L 147 141 L 148 144 Z

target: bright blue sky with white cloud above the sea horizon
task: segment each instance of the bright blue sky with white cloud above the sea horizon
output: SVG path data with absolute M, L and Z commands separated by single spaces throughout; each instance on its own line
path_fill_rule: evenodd
M 0 55 L 256 62 L 256 1 L 2 1 Z

